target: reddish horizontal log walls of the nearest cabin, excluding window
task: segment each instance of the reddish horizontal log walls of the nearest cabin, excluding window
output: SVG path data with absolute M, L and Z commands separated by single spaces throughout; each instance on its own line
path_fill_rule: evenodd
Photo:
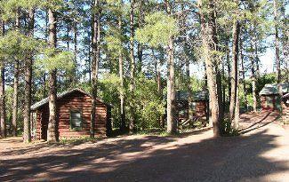
M 90 124 L 91 124 L 91 103 L 92 98 L 85 95 L 82 92 L 73 92 L 69 95 L 57 100 L 57 113 L 58 113 L 58 131 L 60 138 L 74 138 L 81 136 L 90 136 Z M 37 111 L 37 138 L 46 138 L 43 131 L 48 123 L 49 113 L 48 104 L 44 105 Z M 82 130 L 75 131 L 70 128 L 70 111 L 80 110 L 82 112 Z M 107 120 L 108 120 L 108 107 L 97 101 L 95 125 L 94 130 L 96 135 L 106 135 L 107 133 Z M 44 118 L 45 117 L 45 118 Z M 42 126 L 39 126 L 41 123 Z M 40 137 L 42 136 L 42 137 Z

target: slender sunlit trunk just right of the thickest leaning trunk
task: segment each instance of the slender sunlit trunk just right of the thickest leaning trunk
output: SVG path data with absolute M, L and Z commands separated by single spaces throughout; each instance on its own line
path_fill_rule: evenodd
M 232 47 L 232 55 L 233 55 L 233 64 L 232 64 L 232 75 L 231 75 L 231 98 L 229 103 L 229 121 L 232 123 L 235 107 L 237 106 L 237 87 L 238 87 L 238 46 L 239 46 L 239 35 L 240 35 L 240 24 L 238 20 L 234 20 L 233 24 L 233 47 Z

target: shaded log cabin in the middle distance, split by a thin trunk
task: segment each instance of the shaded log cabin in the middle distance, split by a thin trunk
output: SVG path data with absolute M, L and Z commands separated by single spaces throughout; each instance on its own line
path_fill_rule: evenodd
M 176 102 L 179 113 L 179 121 L 188 120 L 189 117 L 198 117 L 204 120 L 209 116 L 209 97 L 207 91 L 192 92 L 193 115 L 189 116 L 189 92 L 176 91 Z

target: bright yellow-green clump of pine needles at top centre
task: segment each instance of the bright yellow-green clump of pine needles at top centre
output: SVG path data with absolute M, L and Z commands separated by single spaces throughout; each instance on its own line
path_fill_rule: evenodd
M 145 17 L 146 25 L 136 31 L 136 39 L 152 47 L 165 46 L 171 36 L 179 32 L 177 21 L 164 12 L 154 12 Z

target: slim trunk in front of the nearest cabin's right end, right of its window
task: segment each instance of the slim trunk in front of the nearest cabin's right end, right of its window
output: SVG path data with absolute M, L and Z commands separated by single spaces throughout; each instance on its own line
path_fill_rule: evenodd
M 92 122 L 90 132 L 91 138 L 94 138 L 97 84 L 100 62 L 100 0 L 94 0 L 92 6 L 98 9 L 98 12 L 94 12 L 92 16 Z

